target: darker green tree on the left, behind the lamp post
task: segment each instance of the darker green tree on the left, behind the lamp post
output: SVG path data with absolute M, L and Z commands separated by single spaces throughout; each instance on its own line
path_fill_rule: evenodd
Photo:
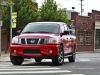
M 11 2 L 9 0 L 8 2 Z M 13 35 L 18 29 L 23 29 L 29 22 L 39 21 L 35 0 L 13 0 L 13 12 L 17 12 L 17 27 L 13 29 Z M 8 6 L 3 15 L 3 27 L 10 31 L 10 7 Z

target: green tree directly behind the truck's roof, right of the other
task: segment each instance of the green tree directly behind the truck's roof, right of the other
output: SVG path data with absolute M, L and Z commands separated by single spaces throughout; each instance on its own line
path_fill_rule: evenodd
M 45 0 L 40 8 L 41 21 L 60 21 L 68 22 L 67 14 L 64 9 L 58 8 L 56 1 Z

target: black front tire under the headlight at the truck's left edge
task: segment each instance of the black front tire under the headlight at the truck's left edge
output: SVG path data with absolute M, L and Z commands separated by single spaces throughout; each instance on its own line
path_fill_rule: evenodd
M 24 61 L 24 58 L 10 55 L 10 60 L 13 65 L 21 65 Z

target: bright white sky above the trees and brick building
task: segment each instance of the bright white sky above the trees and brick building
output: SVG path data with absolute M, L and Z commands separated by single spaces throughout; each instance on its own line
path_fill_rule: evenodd
M 55 0 L 58 4 L 60 4 L 61 8 L 67 8 L 67 10 L 72 10 L 72 7 L 75 7 L 74 11 L 81 12 L 81 1 L 80 0 Z M 38 3 L 38 7 L 42 5 L 44 0 L 36 0 Z M 100 11 L 100 0 L 83 0 L 82 8 L 84 9 L 83 14 L 87 14 L 92 10 Z

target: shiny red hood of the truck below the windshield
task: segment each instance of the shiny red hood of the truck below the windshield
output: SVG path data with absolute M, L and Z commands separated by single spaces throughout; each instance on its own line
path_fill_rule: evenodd
M 50 38 L 56 37 L 56 34 L 45 34 L 45 33 L 30 33 L 30 34 L 20 34 L 19 38 Z

